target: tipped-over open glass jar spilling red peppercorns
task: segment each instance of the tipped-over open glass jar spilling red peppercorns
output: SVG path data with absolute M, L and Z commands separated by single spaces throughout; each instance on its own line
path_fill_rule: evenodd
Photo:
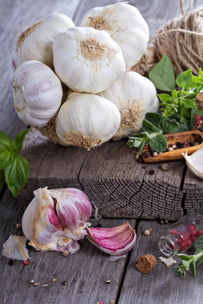
M 183 253 L 203 235 L 203 216 L 185 215 L 159 238 L 161 252 L 170 257 Z

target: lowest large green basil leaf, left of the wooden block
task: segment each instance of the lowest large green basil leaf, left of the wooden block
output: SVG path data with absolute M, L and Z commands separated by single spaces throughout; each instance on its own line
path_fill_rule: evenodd
M 18 156 L 14 162 L 5 170 L 7 185 L 16 197 L 22 187 L 25 185 L 29 176 L 29 165 L 26 159 Z

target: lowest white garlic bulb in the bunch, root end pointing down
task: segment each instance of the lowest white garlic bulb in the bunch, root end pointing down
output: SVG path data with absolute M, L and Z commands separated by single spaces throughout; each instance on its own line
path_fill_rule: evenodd
M 56 133 L 62 142 L 89 150 L 109 140 L 119 124 L 119 110 L 111 101 L 94 94 L 72 93 L 58 112 Z

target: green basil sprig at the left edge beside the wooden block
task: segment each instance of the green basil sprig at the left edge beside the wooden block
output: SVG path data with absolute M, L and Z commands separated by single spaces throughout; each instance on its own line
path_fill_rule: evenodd
M 0 131 L 0 183 L 3 180 L 1 176 L 4 175 L 2 169 L 5 169 L 6 182 L 14 197 L 18 195 L 29 176 L 27 160 L 18 155 L 28 131 L 29 129 L 26 129 L 18 133 L 12 142 L 7 133 Z

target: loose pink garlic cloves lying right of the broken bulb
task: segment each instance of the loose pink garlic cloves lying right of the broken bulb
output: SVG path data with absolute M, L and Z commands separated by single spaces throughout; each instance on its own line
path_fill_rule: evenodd
M 136 232 L 128 222 L 110 229 L 87 227 L 87 235 L 93 245 L 111 255 L 122 256 L 136 243 Z

